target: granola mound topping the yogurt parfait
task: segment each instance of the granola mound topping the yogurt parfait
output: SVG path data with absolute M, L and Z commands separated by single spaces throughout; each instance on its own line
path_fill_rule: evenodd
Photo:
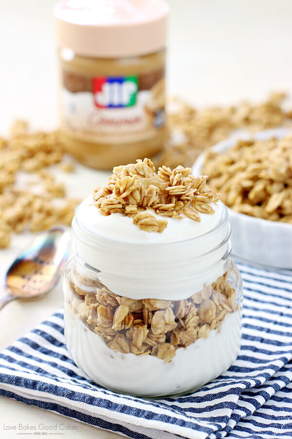
M 191 168 L 162 166 L 156 174 L 149 159 L 116 166 L 107 185 L 94 190 L 94 204 L 103 215 L 132 217 L 146 232 L 162 233 L 167 226 L 167 220 L 155 217 L 151 210 L 163 217 L 200 221 L 200 213 L 214 214 L 211 203 L 218 201 L 219 194 L 206 190 L 206 176 L 197 178 L 190 173 Z

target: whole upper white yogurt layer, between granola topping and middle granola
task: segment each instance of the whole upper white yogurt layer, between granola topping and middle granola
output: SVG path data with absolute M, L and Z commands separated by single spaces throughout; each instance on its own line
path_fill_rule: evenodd
M 76 210 L 74 252 L 115 294 L 187 299 L 224 273 L 230 228 L 221 202 L 213 215 L 200 214 L 201 222 L 167 219 L 162 233 L 145 232 L 122 214 L 106 217 L 92 202 L 87 198 Z

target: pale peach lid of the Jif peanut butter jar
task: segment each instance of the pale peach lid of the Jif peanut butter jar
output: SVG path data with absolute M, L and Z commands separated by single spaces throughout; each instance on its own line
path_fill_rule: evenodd
M 61 48 L 97 58 L 145 55 L 165 46 L 164 0 L 62 0 L 54 7 Z

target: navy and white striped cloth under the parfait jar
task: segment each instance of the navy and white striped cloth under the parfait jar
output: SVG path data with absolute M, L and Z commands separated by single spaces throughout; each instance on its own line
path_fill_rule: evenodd
M 60 310 L 0 354 L 0 393 L 129 438 L 291 438 L 292 274 L 238 266 L 241 351 L 200 391 L 147 400 L 95 385 L 68 355 Z

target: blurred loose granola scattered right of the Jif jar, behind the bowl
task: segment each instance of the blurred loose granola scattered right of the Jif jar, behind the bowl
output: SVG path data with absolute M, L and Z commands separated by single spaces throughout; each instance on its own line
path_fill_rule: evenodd
M 241 102 L 230 107 L 204 109 L 175 100 L 175 111 L 168 115 L 170 138 L 162 153 L 155 157 L 155 165 L 161 166 L 163 163 L 171 168 L 178 164 L 192 166 L 205 148 L 226 139 L 234 130 L 253 132 L 291 124 L 292 111 L 286 112 L 282 108 L 284 98 L 285 93 L 274 93 L 258 105 Z M 179 142 L 172 139 L 174 131 L 183 134 Z

